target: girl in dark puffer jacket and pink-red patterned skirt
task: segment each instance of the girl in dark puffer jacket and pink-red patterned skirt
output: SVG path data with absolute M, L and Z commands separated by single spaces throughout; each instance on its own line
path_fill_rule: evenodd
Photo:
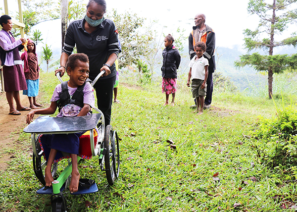
M 169 95 L 172 94 L 171 106 L 174 106 L 176 93 L 176 78 L 177 69 L 181 62 L 181 56 L 175 46 L 173 46 L 174 38 L 168 34 L 164 39 L 165 49 L 163 50 L 163 65 L 162 65 L 162 93 L 166 94 L 166 102 L 168 105 Z

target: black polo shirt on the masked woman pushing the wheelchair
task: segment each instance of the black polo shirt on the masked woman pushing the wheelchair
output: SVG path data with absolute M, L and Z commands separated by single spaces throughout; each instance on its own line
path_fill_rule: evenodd
M 67 28 L 62 53 L 70 55 L 76 45 L 77 53 L 85 53 L 90 60 L 89 78 L 94 80 L 110 54 L 119 53 L 117 29 L 110 19 L 105 19 L 91 34 L 85 30 L 85 19 L 72 21 Z M 110 67 L 111 73 L 99 80 L 116 75 L 115 64 Z

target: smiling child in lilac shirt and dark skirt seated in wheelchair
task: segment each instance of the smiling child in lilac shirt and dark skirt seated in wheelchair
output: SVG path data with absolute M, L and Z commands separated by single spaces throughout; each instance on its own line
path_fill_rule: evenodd
M 69 56 L 66 67 L 69 80 L 58 84 L 50 99 L 50 106 L 44 109 L 32 110 L 27 115 L 27 123 L 33 121 L 34 114 L 53 114 L 59 108 L 57 117 L 90 115 L 91 107 L 95 105 L 92 85 L 86 80 L 89 77 L 89 58 L 84 53 Z M 40 144 L 48 161 L 45 169 L 46 186 L 51 186 L 53 177 L 51 166 L 54 161 L 71 158 L 72 177 L 69 185 L 71 193 L 78 191 L 80 173 L 77 156 L 79 154 L 79 137 L 84 134 L 52 134 L 42 135 Z

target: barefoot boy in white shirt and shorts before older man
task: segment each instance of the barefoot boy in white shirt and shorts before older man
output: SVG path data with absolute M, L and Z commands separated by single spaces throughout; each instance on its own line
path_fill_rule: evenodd
M 192 78 L 192 95 L 197 102 L 198 115 L 203 114 L 204 96 L 206 94 L 206 80 L 208 76 L 208 60 L 203 57 L 206 45 L 203 42 L 197 42 L 194 46 L 196 56 L 190 61 L 190 71 L 187 86 L 190 87 Z

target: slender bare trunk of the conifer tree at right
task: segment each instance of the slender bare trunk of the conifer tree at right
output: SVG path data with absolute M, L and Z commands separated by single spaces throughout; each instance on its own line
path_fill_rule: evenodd
M 275 24 L 275 10 L 276 10 L 276 0 L 273 0 L 273 14 L 271 20 L 271 29 L 270 29 L 270 45 L 269 45 L 269 55 L 273 55 L 274 47 L 274 24 Z M 268 68 L 268 97 L 272 98 L 272 81 L 273 81 L 273 69 L 272 67 Z

